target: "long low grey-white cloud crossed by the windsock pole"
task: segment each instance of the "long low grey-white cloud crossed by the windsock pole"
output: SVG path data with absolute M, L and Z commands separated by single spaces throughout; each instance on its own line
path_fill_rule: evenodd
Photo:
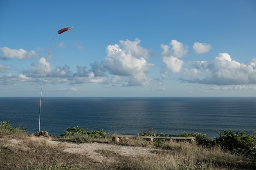
M 23 74 L 18 77 L 23 78 L 23 80 L 34 78 L 35 82 L 41 82 L 45 63 L 46 59 L 44 57 L 40 58 L 39 63 L 33 62 L 31 68 L 23 70 Z M 90 66 L 91 69 L 88 69 L 86 66 L 76 66 L 77 71 L 72 73 L 70 67 L 66 64 L 64 64 L 64 66 L 57 65 L 54 68 L 51 66 L 50 62 L 47 62 L 44 82 L 49 84 L 106 84 L 108 82 L 108 78 L 105 74 L 106 68 L 96 61 L 90 64 Z

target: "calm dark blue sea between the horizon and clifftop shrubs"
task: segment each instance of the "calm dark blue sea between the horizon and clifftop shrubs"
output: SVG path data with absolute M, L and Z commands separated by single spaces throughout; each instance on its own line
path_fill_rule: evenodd
M 38 131 L 39 97 L 0 97 L 0 121 Z M 256 97 L 43 97 L 40 130 L 61 135 L 68 127 L 137 135 L 148 128 L 177 135 L 256 130 Z

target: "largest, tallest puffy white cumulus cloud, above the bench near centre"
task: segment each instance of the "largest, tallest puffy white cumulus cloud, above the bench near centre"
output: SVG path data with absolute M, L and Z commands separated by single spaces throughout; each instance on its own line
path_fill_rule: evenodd
M 118 44 L 108 45 L 106 48 L 105 67 L 113 75 L 141 76 L 148 73 L 154 64 L 147 63 L 145 58 L 151 57 L 149 50 L 139 46 L 140 40 L 120 41 L 123 48 Z

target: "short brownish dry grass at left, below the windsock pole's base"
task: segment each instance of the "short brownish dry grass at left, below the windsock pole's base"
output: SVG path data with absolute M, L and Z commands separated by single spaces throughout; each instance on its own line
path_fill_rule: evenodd
M 20 140 L 22 138 L 22 140 Z M 18 143 L 11 143 L 17 139 Z M 47 137 L 13 133 L 0 140 L 0 170 L 102 170 L 113 169 L 111 163 L 98 163 L 86 154 L 63 152 L 67 143 L 52 144 Z M 14 141 L 14 140 L 13 140 Z M 106 168 L 108 166 L 109 168 Z

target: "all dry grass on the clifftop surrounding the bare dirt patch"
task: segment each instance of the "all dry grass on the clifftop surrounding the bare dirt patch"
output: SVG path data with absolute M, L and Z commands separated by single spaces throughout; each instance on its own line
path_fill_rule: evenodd
M 9 127 L 9 126 L 8 126 Z M 63 152 L 68 142 L 104 142 L 114 144 L 110 136 L 90 132 L 62 137 L 47 142 L 49 137 L 35 137 L 24 130 L 0 126 L 0 170 L 254 170 L 255 158 L 223 150 L 220 145 L 203 147 L 189 142 L 162 142 L 154 155 L 127 157 L 120 152 L 101 149 L 98 154 L 115 161 L 97 161 L 86 153 Z M 11 130 L 10 130 L 11 129 Z M 77 131 L 77 129 L 76 129 Z M 87 132 L 83 132 L 87 134 Z M 120 139 L 127 146 L 156 147 L 144 139 Z

